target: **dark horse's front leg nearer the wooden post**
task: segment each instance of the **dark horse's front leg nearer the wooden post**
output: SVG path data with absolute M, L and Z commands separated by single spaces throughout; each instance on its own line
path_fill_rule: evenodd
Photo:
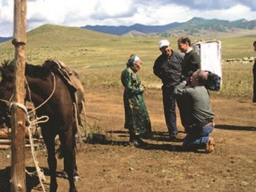
M 45 145 L 47 147 L 47 152 L 48 152 L 48 166 L 50 169 L 50 191 L 55 192 L 57 191 L 58 184 L 56 180 L 56 166 L 57 166 L 57 161 L 55 157 L 55 138 L 50 138 L 49 136 L 43 137 L 45 140 Z

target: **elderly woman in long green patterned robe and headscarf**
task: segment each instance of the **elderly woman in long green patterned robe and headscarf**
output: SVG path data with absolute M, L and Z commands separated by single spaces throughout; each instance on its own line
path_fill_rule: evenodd
M 146 144 L 141 140 L 141 136 L 151 132 L 151 122 L 143 98 L 144 87 L 137 75 L 142 61 L 140 57 L 131 55 L 126 65 L 121 74 L 124 86 L 124 128 L 129 130 L 130 143 L 138 147 Z

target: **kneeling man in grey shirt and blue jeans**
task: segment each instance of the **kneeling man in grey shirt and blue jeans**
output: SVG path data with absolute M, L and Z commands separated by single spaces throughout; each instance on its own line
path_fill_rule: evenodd
M 205 149 L 213 152 L 213 111 L 205 84 L 208 73 L 197 70 L 190 78 L 175 87 L 174 94 L 180 103 L 181 123 L 187 133 L 183 146 L 189 149 Z

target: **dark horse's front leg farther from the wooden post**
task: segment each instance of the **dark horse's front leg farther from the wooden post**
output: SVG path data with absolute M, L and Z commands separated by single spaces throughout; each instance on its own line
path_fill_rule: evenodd
M 74 172 L 74 155 L 75 155 L 75 138 L 73 136 L 72 128 L 66 130 L 63 135 L 60 135 L 62 142 L 62 150 L 64 154 L 64 169 L 67 171 L 67 176 L 69 178 L 69 191 L 75 192 L 77 188 L 75 188 L 75 182 L 73 179 Z

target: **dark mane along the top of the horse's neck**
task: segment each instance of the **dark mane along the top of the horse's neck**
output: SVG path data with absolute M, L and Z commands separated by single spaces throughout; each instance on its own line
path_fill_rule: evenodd
M 14 72 L 14 61 L 4 61 L 2 63 L 2 68 L 6 68 L 10 72 Z M 31 78 L 40 78 L 40 79 L 47 79 L 50 76 L 50 73 L 53 70 L 45 65 L 32 65 L 26 63 L 25 67 L 25 75 L 30 76 Z M 54 72 L 53 72 L 54 73 Z

